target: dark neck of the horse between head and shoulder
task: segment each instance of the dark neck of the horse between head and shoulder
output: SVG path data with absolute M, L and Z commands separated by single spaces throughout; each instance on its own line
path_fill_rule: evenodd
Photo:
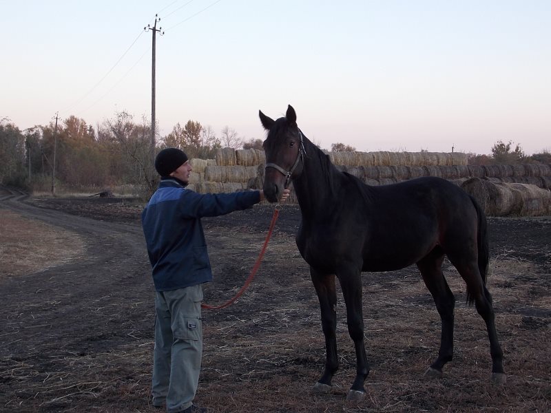
M 309 140 L 305 141 L 306 156 L 300 177 L 293 180 L 302 215 L 323 218 L 337 202 L 333 165 L 326 165 L 326 155 Z

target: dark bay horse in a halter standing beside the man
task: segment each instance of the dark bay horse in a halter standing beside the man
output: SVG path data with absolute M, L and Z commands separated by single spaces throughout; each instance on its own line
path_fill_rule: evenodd
M 453 359 L 455 297 L 442 273 L 444 257 L 457 268 L 484 319 L 490 340 L 492 376 L 505 383 L 503 352 L 495 329 L 492 296 L 486 288 L 489 242 L 486 215 L 475 198 L 447 180 L 424 177 L 396 184 L 369 186 L 339 171 L 329 156 L 299 129 L 295 109 L 273 120 L 259 111 L 267 131 L 264 195 L 277 202 L 293 183 L 301 223 L 295 237 L 310 267 L 320 301 L 326 362 L 318 392 L 331 391 L 339 368 L 336 342 L 335 276 L 346 304 L 349 335 L 355 346 L 356 376 L 347 399 L 360 401 L 370 366 L 364 347 L 362 271 L 396 271 L 417 264 L 441 319 L 438 356 L 425 376 L 442 377 Z

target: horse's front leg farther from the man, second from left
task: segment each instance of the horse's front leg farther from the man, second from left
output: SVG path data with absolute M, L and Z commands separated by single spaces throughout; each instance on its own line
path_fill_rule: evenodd
M 362 310 L 362 280 L 360 270 L 344 268 L 337 273 L 346 303 L 346 320 L 348 321 L 349 334 L 354 341 L 356 351 L 356 377 L 352 383 L 348 400 L 363 400 L 366 396 L 364 383 L 369 374 L 364 346 L 364 315 Z

